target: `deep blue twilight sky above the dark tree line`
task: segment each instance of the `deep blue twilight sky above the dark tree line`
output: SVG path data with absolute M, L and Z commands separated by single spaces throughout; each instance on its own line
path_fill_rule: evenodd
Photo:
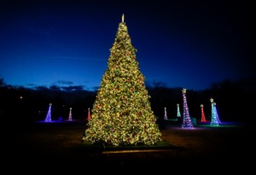
M 122 14 L 146 82 L 201 90 L 250 77 L 252 8 L 236 1 L 2 0 L 0 77 L 27 88 L 100 86 Z

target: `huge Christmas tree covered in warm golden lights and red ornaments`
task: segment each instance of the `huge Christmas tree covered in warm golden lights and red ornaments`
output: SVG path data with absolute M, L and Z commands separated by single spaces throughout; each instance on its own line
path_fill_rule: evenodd
M 138 68 L 137 49 L 131 44 L 124 18 L 123 14 L 84 132 L 84 141 L 92 144 L 151 145 L 161 141 L 145 77 Z

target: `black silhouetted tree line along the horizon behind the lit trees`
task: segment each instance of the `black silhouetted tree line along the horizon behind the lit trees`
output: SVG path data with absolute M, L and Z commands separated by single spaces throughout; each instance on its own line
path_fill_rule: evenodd
M 177 104 L 183 114 L 182 89 L 169 88 L 165 83 L 146 83 L 150 95 L 151 108 L 154 115 L 160 119 L 166 113 L 168 119 L 177 117 Z M 213 82 L 204 90 L 187 89 L 187 103 L 189 114 L 197 121 L 201 119 L 201 104 L 204 105 L 205 115 L 211 120 L 211 102 L 218 106 L 218 116 L 221 121 L 249 122 L 254 120 L 253 100 L 256 95 L 254 79 L 241 78 L 237 81 L 229 79 L 222 82 Z M 0 77 L 0 116 L 3 121 L 34 122 L 43 121 L 47 115 L 49 103 L 52 104 L 52 119 L 64 120 L 68 118 L 69 109 L 73 109 L 74 120 L 84 120 L 88 108 L 92 109 L 96 90 L 84 90 L 81 87 L 60 88 L 24 88 L 10 86 Z

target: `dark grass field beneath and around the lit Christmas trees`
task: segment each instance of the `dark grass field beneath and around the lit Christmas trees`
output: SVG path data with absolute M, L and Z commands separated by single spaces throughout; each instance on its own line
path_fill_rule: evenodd
M 84 143 L 85 121 L 2 125 L 2 167 L 9 171 L 31 172 L 32 167 L 37 172 L 48 168 L 59 172 L 73 168 L 91 168 L 93 172 L 119 168 L 131 172 L 246 172 L 253 168 L 255 155 L 253 127 L 243 123 L 224 122 L 218 127 L 197 123 L 194 129 L 184 129 L 177 121 L 163 121 L 161 143 L 123 148 Z

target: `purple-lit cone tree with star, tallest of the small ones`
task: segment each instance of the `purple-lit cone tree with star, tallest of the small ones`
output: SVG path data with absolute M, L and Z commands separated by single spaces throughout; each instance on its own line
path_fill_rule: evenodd
M 189 116 L 189 106 L 187 104 L 186 89 L 183 88 L 183 128 L 194 128 L 191 118 Z

